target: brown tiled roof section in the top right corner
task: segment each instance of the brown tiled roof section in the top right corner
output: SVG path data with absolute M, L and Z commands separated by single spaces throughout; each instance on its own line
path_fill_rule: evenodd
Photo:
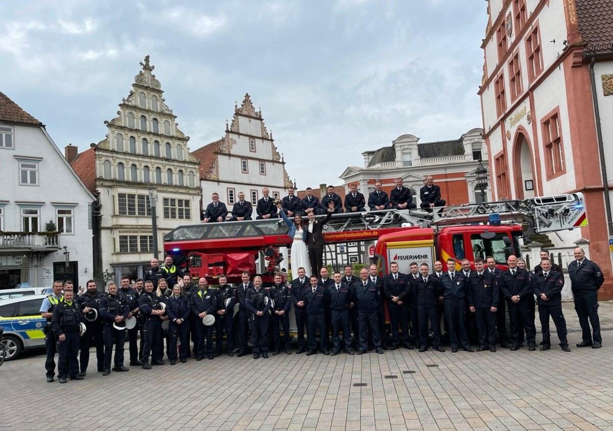
M 576 0 L 577 24 L 590 54 L 613 52 L 613 1 Z

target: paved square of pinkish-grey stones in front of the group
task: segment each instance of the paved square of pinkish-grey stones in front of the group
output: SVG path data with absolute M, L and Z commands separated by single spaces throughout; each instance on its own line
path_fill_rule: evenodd
M 598 350 L 575 347 L 571 303 L 564 313 L 569 353 L 221 356 L 67 384 L 45 382 L 44 355 L 30 355 L 0 367 L 0 429 L 613 430 L 613 302 Z

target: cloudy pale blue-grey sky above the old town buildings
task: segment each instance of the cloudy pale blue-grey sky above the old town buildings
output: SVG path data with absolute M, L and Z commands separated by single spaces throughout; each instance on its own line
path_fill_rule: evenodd
M 197 4 L 197 6 L 196 6 Z M 0 90 L 80 150 L 107 131 L 139 62 L 195 150 L 246 92 L 299 188 L 341 184 L 361 153 L 481 127 L 484 1 L 0 3 Z M 313 161 L 311 161 L 313 160 Z

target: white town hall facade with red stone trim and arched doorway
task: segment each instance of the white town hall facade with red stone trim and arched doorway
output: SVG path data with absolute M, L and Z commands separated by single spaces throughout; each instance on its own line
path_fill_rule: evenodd
M 613 2 L 490 0 L 487 12 L 479 95 L 493 195 L 583 193 L 588 225 L 549 238 L 564 254 L 584 247 L 612 298 Z

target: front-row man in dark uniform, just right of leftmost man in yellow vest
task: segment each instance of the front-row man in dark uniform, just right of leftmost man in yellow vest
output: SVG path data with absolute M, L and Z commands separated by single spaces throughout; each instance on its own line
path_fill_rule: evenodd
M 74 299 L 74 292 L 66 290 L 64 301 L 53 308 L 51 329 L 58 340 L 58 378 L 60 383 L 70 380 L 83 380 L 78 375 L 78 348 L 80 344 L 80 323 L 83 322 L 83 313 Z

